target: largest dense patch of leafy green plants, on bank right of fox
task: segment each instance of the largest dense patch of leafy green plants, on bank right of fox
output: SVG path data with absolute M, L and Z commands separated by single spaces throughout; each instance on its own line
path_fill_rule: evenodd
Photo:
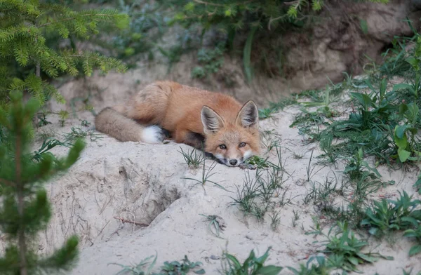
M 302 96 L 311 98 L 312 102 L 302 103 L 305 109 L 290 127 L 297 127 L 309 142 L 320 142 L 325 163 L 351 158 L 361 149 L 365 156 L 375 156 L 377 163 L 392 167 L 421 160 L 421 140 L 417 135 L 421 126 L 421 36 L 417 34 L 413 40 L 416 41 L 413 51 L 405 52 L 399 46 L 399 53 L 383 65 L 385 71 L 377 72 L 396 75 L 396 69 L 406 69 L 407 72 L 399 73 L 406 76 L 406 83 L 390 85 L 389 76 L 376 78 L 377 74 L 365 79 L 363 85 L 357 86 L 351 80 L 342 83 L 342 86 L 366 89 L 349 92 L 351 99 L 345 103 L 353 110 L 347 119 L 336 119 L 334 113 L 326 112 L 332 109 L 330 105 L 334 102 L 329 89 L 303 93 Z M 309 112 L 309 107 L 319 109 Z M 374 169 L 368 169 L 375 173 Z

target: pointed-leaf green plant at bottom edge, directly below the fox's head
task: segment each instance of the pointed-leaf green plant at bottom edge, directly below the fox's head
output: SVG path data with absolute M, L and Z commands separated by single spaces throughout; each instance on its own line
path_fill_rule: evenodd
M 283 269 L 282 267 L 277 267 L 275 265 L 265 266 L 267 257 L 269 257 L 269 250 L 272 247 L 267 248 L 265 254 L 260 257 L 256 257 L 254 250 L 251 250 L 250 255 L 247 259 L 241 264 L 241 262 L 227 252 L 224 253 L 222 258 L 222 274 L 225 275 L 258 275 L 258 274 L 267 274 L 267 275 L 277 275 Z

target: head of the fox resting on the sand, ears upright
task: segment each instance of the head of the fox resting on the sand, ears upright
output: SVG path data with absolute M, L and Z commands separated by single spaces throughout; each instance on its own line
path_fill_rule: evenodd
M 239 166 L 250 156 L 260 154 L 258 107 L 252 100 L 241 107 L 235 121 L 224 121 L 213 109 L 203 106 L 201 121 L 205 151 L 220 163 Z

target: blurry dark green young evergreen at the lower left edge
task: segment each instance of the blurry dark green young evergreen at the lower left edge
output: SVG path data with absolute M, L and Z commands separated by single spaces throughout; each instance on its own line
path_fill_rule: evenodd
M 78 159 L 84 144 L 77 140 L 65 159 L 44 154 L 34 161 L 29 154 L 32 140 L 32 116 L 39 101 L 22 102 L 22 93 L 10 95 L 8 112 L 0 109 L 0 232 L 7 247 L 0 256 L 0 274 L 39 274 L 69 269 L 76 260 L 78 239 L 70 237 L 65 245 L 49 257 L 36 254 L 37 233 L 45 230 L 51 208 L 42 183 Z

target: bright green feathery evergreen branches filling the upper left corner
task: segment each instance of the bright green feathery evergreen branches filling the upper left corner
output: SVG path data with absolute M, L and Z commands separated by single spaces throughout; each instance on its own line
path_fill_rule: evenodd
M 45 102 L 55 98 L 64 102 L 58 91 L 41 79 L 59 74 L 76 76 L 93 69 L 123 71 L 119 60 L 98 53 L 77 51 L 74 39 L 88 39 L 98 33 L 100 23 L 119 28 L 128 25 L 128 16 L 114 10 L 73 11 L 64 4 L 43 0 L 0 0 L 0 101 L 8 101 L 10 91 L 28 91 Z M 46 37 L 55 36 L 52 45 Z M 70 47 L 59 47 L 69 42 Z M 23 70 L 22 70 L 23 67 Z

